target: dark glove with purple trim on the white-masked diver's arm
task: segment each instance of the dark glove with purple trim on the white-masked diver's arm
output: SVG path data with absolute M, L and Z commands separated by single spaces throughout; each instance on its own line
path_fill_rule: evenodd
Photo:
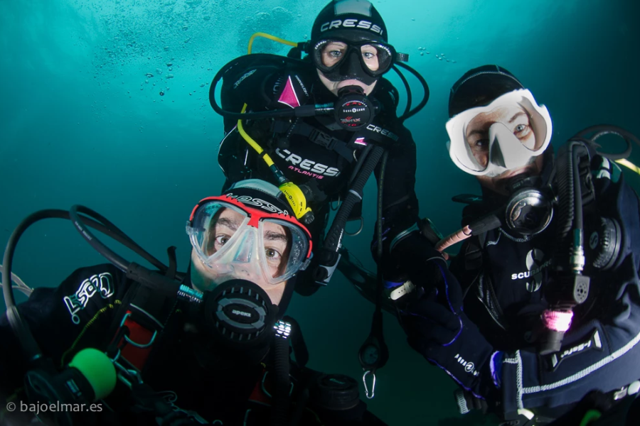
M 501 352 L 494 352 L 462 311 L 462 288 L 457 279 L 446 266 L 432 264 L 439 280 L 432 290 L 418 288 L 415 299 L 400 310 L 407 342 L 476 398 L 494 400 Z

